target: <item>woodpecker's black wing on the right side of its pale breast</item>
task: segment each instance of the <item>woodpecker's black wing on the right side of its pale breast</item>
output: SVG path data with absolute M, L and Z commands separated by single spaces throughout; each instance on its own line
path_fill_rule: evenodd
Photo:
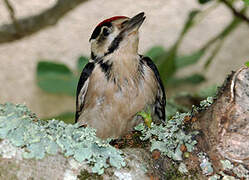
M 147 64 L 147 66 L 154 72 L 157 83 L 158 83 L 158 92 L 155 99 L 154 113 L 161 120 L 165 121 L 165 106 L 166 106 L 166 95 L 163 86 L 163 82 L 160 78 L 160 74 L 156 65 L 149 57 L 143 57 L 142 60 Z

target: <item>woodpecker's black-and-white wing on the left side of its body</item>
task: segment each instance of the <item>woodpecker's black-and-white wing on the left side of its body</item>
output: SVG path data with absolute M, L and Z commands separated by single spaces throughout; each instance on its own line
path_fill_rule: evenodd
M 76 94 L 76 113 L 75 122 L 78 121 L 80 113 L 84 107 L 84 99 L 88 88 L 89 77 L 92 74 L 95 65 L 93 62 L 89 62 L 83 69 L 80 75 L 80 79 L 77 86 Z

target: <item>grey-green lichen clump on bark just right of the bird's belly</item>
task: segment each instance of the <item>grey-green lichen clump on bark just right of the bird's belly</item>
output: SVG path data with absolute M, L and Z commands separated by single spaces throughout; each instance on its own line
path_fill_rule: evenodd
M 186 133 L 183 129 L 184 118 L 190 116 L 190 113 L 176 113 L 165 124 L 155 125 L 151 123 L 151 127 L 147 127 L 144 124 L 139 124 L 135 127 L 135 130 L 141 131 L 142 140 L 149 140 L 151 143 L 151 151 L 158 149 L 163 155 L 168 156 L 174 160 L 182 160 L 181 145 L 187 147 L 188 152 L 192 152 L 194 145 L 197 143 L 193 140 L 193 136 L 197 132 Z

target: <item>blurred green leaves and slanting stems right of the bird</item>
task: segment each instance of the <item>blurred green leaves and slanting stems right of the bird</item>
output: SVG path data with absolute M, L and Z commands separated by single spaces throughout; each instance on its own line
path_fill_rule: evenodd
M 209 1 L 201 1 L 200 3 L 204 4 L 206 2 Z M 213 7 L 215 8 L 216 6 Z M 202 47 L 193 51 L 191 54 L 179 54 L 178 49 L 182 44 L 184 37 L 192 28 L 194 28 L 196 24 L 198 24 L 203 19 L 203 16 L 206 16 L 211 10 L 212 7 L 207 10 L 191 11 L 179 34 L 179 37 L 171 46 L 171 48 L 167 50 L 161 46 L 155 46 L 145 53 L 157 65 L 162 80 L 166 86 L 179 86 L 183 84 L 194 85 L 205 81 L 204 75 L 198 72 L 193 72 L 188 76 L 180 78 L 176 77 L 175 74 L 182 68 L 197 64 L 201 59 L 204 59 L 203 57 L 205 54 L 208 54 L 207 58 L 204 59 L 205 63 L 203 70 L 206 70 L 216 55 L 219 53 L 226 37 L 232 33 L 241 22 L 241 20 L 239 20 L 237 17 L 234 17 L 231 22 L 220 33 L 218 33 L 218 35 L 211 38 Z

